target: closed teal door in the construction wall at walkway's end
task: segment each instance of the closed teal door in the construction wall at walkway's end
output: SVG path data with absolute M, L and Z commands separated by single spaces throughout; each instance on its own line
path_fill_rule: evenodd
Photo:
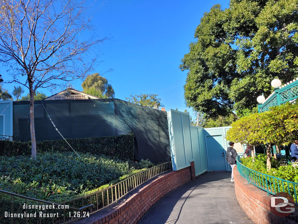
M 206 143 L 209 160 L 209 170 L 226 170 L 223 136 L 207 135 Z

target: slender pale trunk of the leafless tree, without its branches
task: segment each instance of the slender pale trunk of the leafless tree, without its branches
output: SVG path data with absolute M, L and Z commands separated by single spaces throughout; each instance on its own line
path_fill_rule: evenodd
M 34 128 L 34 93 L 33 86 L 29 84 L 30 91 L 30 134 L 31 134 L 31 158 L 36 159 L 36 141 Z

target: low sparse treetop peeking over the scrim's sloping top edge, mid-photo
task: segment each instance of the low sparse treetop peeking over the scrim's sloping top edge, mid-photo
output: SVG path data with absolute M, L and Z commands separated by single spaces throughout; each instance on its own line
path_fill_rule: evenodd
M 140 94 L 140 95 L 130 95 L 130 98 L 125 97 L 128 102 L 139 104 L 142 106 L 153 108 L 154 105 L 158 107 L 163 107 L 164 105 L 160 102 L 161 99 L 157 98 L 158 94 Z

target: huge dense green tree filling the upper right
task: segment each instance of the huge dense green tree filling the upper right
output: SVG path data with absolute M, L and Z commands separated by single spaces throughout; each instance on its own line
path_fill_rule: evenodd
M 298 74 L 297 0 L 231 0 L 214 5 L 195 30 L 181 60 L 188 70 L 186 105 L 210 117 L 249 114 L 268 96 L 272 79 Z

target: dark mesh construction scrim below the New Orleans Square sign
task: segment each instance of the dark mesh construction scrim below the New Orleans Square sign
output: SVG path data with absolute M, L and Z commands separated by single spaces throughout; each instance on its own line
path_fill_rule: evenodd
M 170 161 L 167 113 L 120 99 L 43 100 L 64 138 L 89 138 L 128 134 L 136 136 L 134 157 L 153 163 Z M 41 101 L 34 102 L 36 141 L 62 139 L 46 116 Z M 29 101 L 13 102 L 13 136 L 30 137 Z

